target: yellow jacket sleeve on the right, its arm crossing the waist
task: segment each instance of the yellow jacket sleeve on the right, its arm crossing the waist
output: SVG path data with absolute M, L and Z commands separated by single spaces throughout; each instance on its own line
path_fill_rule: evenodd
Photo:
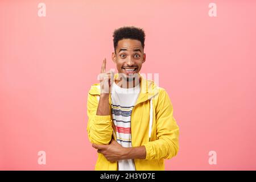
M 156 140 L 144 144 L 146 159 L 171 159 L 179 151 L 179 126 L 172 115 L 172 103 L 166 90 L 159 89 L 156 102 Z

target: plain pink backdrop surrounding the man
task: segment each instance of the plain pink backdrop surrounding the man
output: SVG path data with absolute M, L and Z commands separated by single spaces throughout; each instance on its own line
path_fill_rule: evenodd
M 256 169 L 256 2 L 148 2 L 0 1 L 0 169 L 94 169 L 87 94 L 129 25 L 144 28 L 141 72 L 159 73 L 180 126 L 166 169 Z

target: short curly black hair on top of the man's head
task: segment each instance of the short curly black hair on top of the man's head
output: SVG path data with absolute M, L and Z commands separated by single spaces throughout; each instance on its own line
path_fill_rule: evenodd
M 121 27 L 115 29 L 113 33 L 113 42 L 114 42 L 114 49 L 117 47 L 118 41 L 122 39 L 135 39 L 141 41 L 142 47 L 144 49 L 144 42 L 145 42 L 145 32 L 142 28 L 137 28 L 134 26 L 130 27 Z

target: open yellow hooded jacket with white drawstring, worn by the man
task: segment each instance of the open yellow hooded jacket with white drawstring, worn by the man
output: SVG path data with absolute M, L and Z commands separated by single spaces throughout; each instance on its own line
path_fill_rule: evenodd
M 114 78 L 118 77 L 118 73 Z M 131 139 L 133 147 L 145 146 L 146 159 L 134 159 L 135 168 L 141 170 L 164 170 L 164 159 L 171 159 L 179 150 L 179 126 L 173 117 L 172 103 L 166 90 L 146 80 L 141 75 L 137 102 L 131 113 Z M 115 127 L 111 115 L 96 115 L 100 84 L 93 84 L 88 93 L 88 138 L 91 143 L 109 144 Z M 117 162 L 109 162 L 98 154 L 95 170 L 118 170 Z

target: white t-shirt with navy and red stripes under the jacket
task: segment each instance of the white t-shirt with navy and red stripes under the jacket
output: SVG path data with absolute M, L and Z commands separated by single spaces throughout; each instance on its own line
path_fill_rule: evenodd
M 115 125 L 117 142 L 123 147 L 132 147 L 131 143 L 131 111 L 139 96 L 139 84 L 134 88 L 121 88 L 113 82 L 112 98 L 112 118 Z M 133 159 L 119 160 L 119 171 L 135 171 Z

